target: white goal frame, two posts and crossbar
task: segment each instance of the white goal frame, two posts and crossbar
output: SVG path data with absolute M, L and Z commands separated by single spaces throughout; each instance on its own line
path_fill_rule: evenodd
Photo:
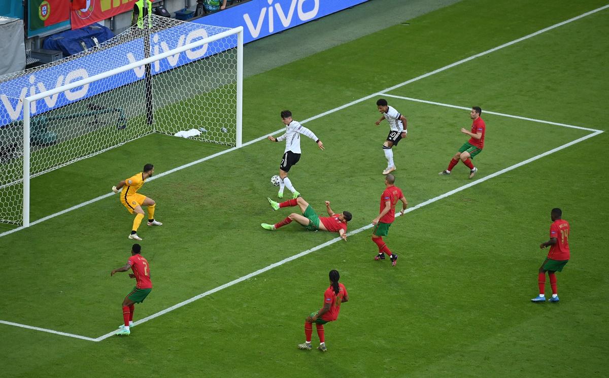
M 243 27 L 238 26 L 233 29 L 226 30 L 225 32 L 217 33 L 211 37 L 203 38 L 202 40 L 194 41 L 184 46 L 177 47 L 167 52 L 163 52 L 158 55 L 154 55 L 149 58 L 144 58 L 139 61 L 130 63 L 119 68 L 111 69 L 110 71 L 102 72 L 86 79 L 72 82 L 66 85 L 58 86 L 57 88 L 49 89 L 33 96 L 28 96 L 23 99 L 23 227 L 30 226 L 30 155 L 31 155 L 31 144 L 30 144 L 30 103 L 44 99 L 44 97 L 53 96 L 58 93 L 69 91 L 70 89 L 77 88 L 97 80 L 106 79 L 113 75 L 121 72 L 129 71 L 130 69 L 138 68 L 141 66 L 150 65 L 154 61 L 158 61 L 172 55 L 185 52 L 197 47 L 203 46 L 204 44 L 211 43 L 213 41 L 220 40 L 230 35 L 237 35 L 237 83 L 236 83 L 236 141 L 235 147 L 239 148 L 242 146 L 242 108 L 243 108 Z

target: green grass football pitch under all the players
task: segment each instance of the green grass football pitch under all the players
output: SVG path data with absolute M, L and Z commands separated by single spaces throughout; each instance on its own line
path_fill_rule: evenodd
M 307 119 L 603 5 L 464 0 L 249 77 L 244 141 L 281 128 L 284 108 Z M 592 133 L 485 110 L 608 129 L 607 35 L 609 9 L 385 94 L 481 106 L 487 136 L 474 163 L 483 179 Z M 386 123 L 374 125 L 378 97 L 307 122 L 326 150 L 303 140 L 290 172 L 320 214 L 324 200 L 351 211 L 350 231 L 378 214 L 387 135 Z M 437 175 L 466 140 L 467 110 L 386 98 L 409 120 L 395 175 L 410 206 L 472 182 L 463 164 Z M 155 287 L 135 320 L 334 239 L 297 225 L 260 228 L 290 212 L 266 201 L 283 147 L 262 140 L 144 185 L 164 225 L 141 226 Z M 146 136 L 34 178 L 32 219 L 107 194 L 144 163 L 158 175 L 223 150 Z M 365 229 L 139 324 L 128 338 L 0 324 L 0 376 L 608 376 L 608 151 L 600 133 L 396 219 L 384 238 L 400 255 L 396 267 L 372 260 Z M 571 223 L 572 257 L 557 275 L 560 303 L 532 304 L 554 207 Z M 110 271 L 129 256 L 132 219 L 112 196 L 0 237 L 0 320 L 89 338 L 116 329 L 133 282 Z M 329 351 L 300 351 L 303 320 L 322 304 L 333 268 L 350 301 L 325 327 Z

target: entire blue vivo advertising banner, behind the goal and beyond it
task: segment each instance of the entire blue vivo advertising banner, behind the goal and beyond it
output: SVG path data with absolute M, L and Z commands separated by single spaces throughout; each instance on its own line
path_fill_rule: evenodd
M 150 48 L 153 55 L 159 54 L 159 52 L 166 52 L 206 38 L 208 35 L 215 35 L 224 30 L 224 27 L 237 26 L 244 27 L 244 43 L 247 43 L 366 1 L 368 0 L 252 0 L 195 20 L 194 23 L 200 24 L 196 28 L 193 28 L 192 24 L 184 24 L 155 33 L 151 36 Z M 215 26 L 209 26 L 209 24 Z M 180 38 L 176 38 L 177 33 L 180 33 Z M 225 51 L 227 48 L 236 46 L 236 39 L 234 36 L 229 46 L 225 42 L 215 42 L 200 47 L 196 51 L 189 50 L 165 58 L 153 63 L 152 74 L 158 74 L 167 69 Z M 23 119 L 23 101 L 19 99 L 143 59 L 143 40 L 139 38 L 94 54 L 74 57 L 66 63 L 33 71 L 30 74 L 0 83 L 0 127 Z M 121 75 L 55 94 L 32 102 L 31 114 L 41 114 L 63 107 L 69 103 L 136 82 L 143 79 L 143 76 L 144 68 L 140 67 Z

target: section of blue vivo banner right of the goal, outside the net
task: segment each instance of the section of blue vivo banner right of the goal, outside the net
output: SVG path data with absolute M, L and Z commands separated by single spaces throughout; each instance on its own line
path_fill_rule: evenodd
M 366 1 L 251 0 L 192 22 L 224 27 L 242 26 L 245 30 L 244 43 L 248 43 Z

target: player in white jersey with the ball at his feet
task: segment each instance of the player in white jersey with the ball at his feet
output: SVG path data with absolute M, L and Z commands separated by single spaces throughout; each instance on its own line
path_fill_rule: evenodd
M 292 119 L 291 111 L 284 110 L 281 112 L 281 122 L 286 125 L 286 133 L 277 138 L 269 135 L 269 141 L 286 141 L 286 150 L 283 153 L 283 158 L 281 159 L 281 164 L 279 166 L 279 177 L 281 180 L 279 183 L 279 192 L 277 193 L 277 197 L 283 198 L 283 188 L 287 187 L 287 189 L 292 192 L 292 198 L 297 198 L 300 193 L 298 193 L 298 191 L 292 185 L 290 179 L 287 177 L 287 172 L 289 172 L 290 168 L 298 163 L 298 160 L 300 160 L 300 135 L 302 134 L 313 139 L 322 150 L 323 143 L 319 140 L 319 138 L 317 138 L 317 136 L 315 136 L 313 131 L 301 125 L 300 122 L 294 121 Z

